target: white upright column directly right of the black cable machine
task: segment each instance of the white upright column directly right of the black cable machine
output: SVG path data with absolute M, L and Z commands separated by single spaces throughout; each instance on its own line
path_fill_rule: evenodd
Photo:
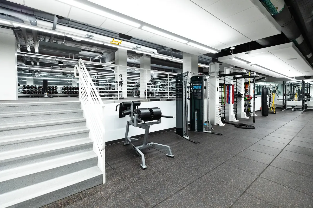
M 221 106 L 219 104 L 218 99 L 218 71 L 219 71 L 219 64 L 218 63 L 210 63 L 210 78 L 209 78 L 209 102 L 210 102 L 210 120 L 211 124 L 225 126 L 225 124 L 221 121 Z

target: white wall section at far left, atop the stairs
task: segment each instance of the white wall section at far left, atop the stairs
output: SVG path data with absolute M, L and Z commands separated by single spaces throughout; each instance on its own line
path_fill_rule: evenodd
M 0 28 L 0 62 L 0 100 L 17 100 L 16 39 L 11 29 Z

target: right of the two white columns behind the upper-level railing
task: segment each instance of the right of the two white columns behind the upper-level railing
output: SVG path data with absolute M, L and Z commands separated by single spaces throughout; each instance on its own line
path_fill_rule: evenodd
M 140 68 L 143 68 L 140 70 L 140 97 L 146 97 L 145 90 L 147 89 L 147 83 L 149 82 L 151 77 L 151 72 L 149 71 L 151 69 L 150 56 L 146 56 L 146 54 L 143 54 L 143 56 L 140 57 Z

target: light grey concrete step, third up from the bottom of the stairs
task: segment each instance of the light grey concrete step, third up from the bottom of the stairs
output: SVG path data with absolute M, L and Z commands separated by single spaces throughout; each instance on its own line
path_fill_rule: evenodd
M 49 157 L 51 155 L 59 155 L 69 151 L 76 151 L 83 149 L 90 150 L 93 147 L 93 141 L 90 138 L 74 139 L 68 141 L 61 141 L 49 143 L 46 145 L 32 146 L 23 149 L 14 149 L 10 151 L 0 152 L 0 171 L 12 168 L 14 163 L 20 163 L 23 160 L 31 163 L 31 160 L 36 159 L 36 156 Z M 50 154 L 52 153 L 52 154 Z M 46 155 L 47 154 L 47 155 Z M 22 160 L 22 161 L 20 161 Z M 7 166 L 9 165 L 9 166 Z

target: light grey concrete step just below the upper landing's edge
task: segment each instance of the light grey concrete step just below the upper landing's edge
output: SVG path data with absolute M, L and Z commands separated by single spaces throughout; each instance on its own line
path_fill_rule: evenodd
M 1 108 L 0 108 L 1 110 Z M 45 111 L 20 111 L 0 113 L 0 126 L 11 123 L 22 123 L 29 121 L 44 121 L 63 118 L 82 118 L 83 110 L 45 110 Z

